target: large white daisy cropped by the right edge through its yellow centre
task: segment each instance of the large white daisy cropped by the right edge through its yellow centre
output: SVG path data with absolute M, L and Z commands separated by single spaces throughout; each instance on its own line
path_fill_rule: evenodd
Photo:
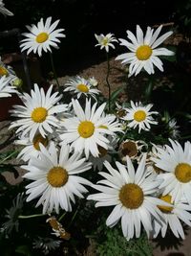
M 185 142 L 182 149 L 180 143 L 169 140 L 172 147 L 158 148 L 158 157 L 151 158 L 163 170 L 159 175 L 163 179 L 159 188 L 163 189 L 163 195 L 170 193 L 173 201 L 184 197 L 191 205 L 191 143 Z

